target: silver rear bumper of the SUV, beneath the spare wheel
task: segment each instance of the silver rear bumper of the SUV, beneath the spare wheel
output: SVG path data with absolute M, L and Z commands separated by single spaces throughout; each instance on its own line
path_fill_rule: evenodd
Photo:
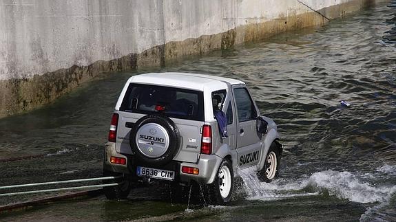
M 112 163 L 110 163 L 110 157 L 125 158 L 127 160 L 127 163 L 125 165 L 112 164 Z M 159 166 L 159 167 L 146 166 L 146 167 L 163 168 L 165 170 L 174 170 L 176 173 L 175 181 L 187 183 L 191 180 L 194 180 L 194 181 L 198 182 L 198 184 L 211 184 L 216 177 L 216 174 L 218 172 L 218 168 L 219 168 L 221 162 L 222 162 L 221 157 L 218 157 L 216 155 L 201 154 L 197 163 L 173 161 L 164 167 L 162 167 L 162 166 Z M 121 153 L 116 152 L 115 143 L 107 142 L 105 144 L 105 159 L 104 159 L 104 164 L 103 164 L 103 168 L 105 170 L 110 170 L 110 171 L 116 172 L 116 173 L 125 173 L 125 174 L 136 176 L 136 165 L 137 164 L 134 162 L 133 157 L 123 155 Z M 138 164 L 138 165 L 140 166 L 140 164 Z M 181 170 L 183 166 L 198 168 L 199 169 L 198 175 L 191 175 L 191 174 L 183 173 Z

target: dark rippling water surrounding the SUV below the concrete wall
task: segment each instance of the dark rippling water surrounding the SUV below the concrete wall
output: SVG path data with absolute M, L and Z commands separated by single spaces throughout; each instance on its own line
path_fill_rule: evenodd
M 140 187 L 1 214 L 6 220 L 396 220 L 396 1 L 324 27 L 189 58 L 163 69 L 247 82 L 285 146 L 280 178 L 252 170 L 231 206 L 174 201 Z M 110 116 L 125 80 L 111 74 L 43 109 L 0 120 L 0 184 L 101 175 Z M 350 106 L 340 104 L 345 100 Z M 2 205 L 28 197 L 1 198 Z M 187 199 L 187 197 L 186 197 Z

